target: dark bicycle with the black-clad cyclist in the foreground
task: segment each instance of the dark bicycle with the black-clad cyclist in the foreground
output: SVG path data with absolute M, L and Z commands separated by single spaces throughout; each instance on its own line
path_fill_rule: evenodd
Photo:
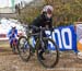
M 32 29 L 39 29 L 39 33 L 32 33 Z M 21 36 L 17 43 L 19 55 L 24 61 L 28 61 L 31 56 L 36 52 L 38 61 L 45 68 L 54 68 L 59 61 L 59 47 L 57 44 L 48 37 L 43 37 L 43 32 L 46 31 L 46 27 L 36 27 L 33 25 L 26 26 L 26 36 Z M 37 36 L 34 47 L 31 45 L 30 39 L 33 36 Z M 54 47 L 54 50 L 49 46 Z M 39 58 L 39 51 L 44 49 L 43 57 L 45 60 Z

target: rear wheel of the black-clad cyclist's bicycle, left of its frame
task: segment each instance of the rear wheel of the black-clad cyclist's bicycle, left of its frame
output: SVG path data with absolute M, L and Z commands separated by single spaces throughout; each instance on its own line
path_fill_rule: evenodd
M 23 61 L 28 61 L 31 58 L 31 45 L 25 36 L 21 36 L 17 43 L 19 55 Z

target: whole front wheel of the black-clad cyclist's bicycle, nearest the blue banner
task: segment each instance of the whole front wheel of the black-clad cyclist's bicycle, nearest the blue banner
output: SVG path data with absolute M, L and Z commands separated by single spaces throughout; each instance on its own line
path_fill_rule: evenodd
M 43 59 L 40 59 L 40 51 L 44 50 L 43 52 Z M 59 48 L 57 44 L 51 39 L 51 38 L 43 38 L 43 43 L 39 40 L 36 44 L 36 54 L 39 62 L 45 67 L 45 68 L 54 68 L 58 61 L 59 61 Z

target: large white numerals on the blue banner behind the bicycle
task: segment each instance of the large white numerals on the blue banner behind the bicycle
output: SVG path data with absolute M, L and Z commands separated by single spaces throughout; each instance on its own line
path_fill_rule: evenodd
M 50 32 L 46 32 L 46 34 L 50 34 Z M 59 48 L 62 49 L 65 47 L 65 49 L 72 49 L 72 32 L 69 27 L 62 28 L 61 31 L 55 29 L 52 36 L 49 36 L 50 38 L 52 37 L 52 39 L 57 43 L 56 35 L 57 35 Z M 66 38 L 68 38 L 68 40 Z M 52 45 L 50 45 L 50 47 L 52 47 Z

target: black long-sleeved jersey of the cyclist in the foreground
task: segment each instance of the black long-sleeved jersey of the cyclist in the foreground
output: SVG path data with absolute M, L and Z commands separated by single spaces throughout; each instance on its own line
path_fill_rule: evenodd
M 46 16 L 46 14 L 40 14 L 39 16 L 37 16 L 32 25 L 35 25 L 35 26 L 42 26 L 42 27 L 45 27 L 46 25 L 48 25 L 49 28 L 52 27 L 52 17 L 48 19 Z

